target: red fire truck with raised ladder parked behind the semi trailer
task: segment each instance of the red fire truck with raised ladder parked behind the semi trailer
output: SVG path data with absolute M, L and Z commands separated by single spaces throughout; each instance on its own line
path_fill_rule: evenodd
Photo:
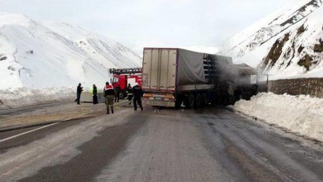
M 126 95 L 126 90 L 128 84 L 132 87 L 135 83 L 138 83 L 141 87 L 141 73 L 142 68 L 127 68 L 127 69 L 110 69 L 110 74 L 113 74 L 113 79 L 111 83 L 113 87 L 119 85 L 120 87 L 120 98 L 124 99 Z

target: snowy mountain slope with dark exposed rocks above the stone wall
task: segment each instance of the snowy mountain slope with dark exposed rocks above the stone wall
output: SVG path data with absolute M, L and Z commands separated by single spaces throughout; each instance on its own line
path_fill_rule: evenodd
M 271 79 L 323 77 L 323 1 L 302 0 L 230 38 L 220 51 Z

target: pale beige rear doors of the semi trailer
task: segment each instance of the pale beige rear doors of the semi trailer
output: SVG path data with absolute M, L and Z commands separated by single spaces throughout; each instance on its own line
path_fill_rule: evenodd
M 173 93 L 177 49 L 144 48 L 142 86 L 145 91 Z

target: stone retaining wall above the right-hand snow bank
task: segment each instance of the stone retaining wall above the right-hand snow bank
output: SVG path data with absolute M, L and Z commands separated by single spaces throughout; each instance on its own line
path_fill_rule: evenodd
M 272 80 L 268 83 L 268 92 L 323 98 L 323 78 Z

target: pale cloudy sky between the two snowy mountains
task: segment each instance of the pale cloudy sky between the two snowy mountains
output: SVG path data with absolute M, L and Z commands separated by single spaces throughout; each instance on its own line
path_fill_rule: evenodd
M 183 47 L 211 53 L 252 23 L 297 1 L 0 0 L 0 12 L 71 23 L 114 39 L 139 55 L 143 47 Z

